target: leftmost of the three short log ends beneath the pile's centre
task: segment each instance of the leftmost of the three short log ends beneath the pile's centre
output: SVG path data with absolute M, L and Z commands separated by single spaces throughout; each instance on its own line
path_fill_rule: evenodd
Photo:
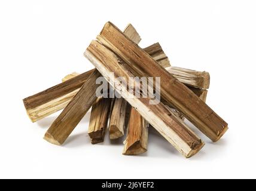
M 97 98 L 92 106 L 88 134 L 92 144 L 103 142 L 108 115 L 110 111 L 111 98 Z

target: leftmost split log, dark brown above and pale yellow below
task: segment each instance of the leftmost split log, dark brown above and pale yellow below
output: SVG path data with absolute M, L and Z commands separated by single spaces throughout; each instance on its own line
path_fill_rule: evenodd
M 32 122 L 45 118 L 60 109 L 63 109 L 77 94 L 93 70 L 84 72 L 68 81 L 41 91 L 23 99 L 23 103 Z

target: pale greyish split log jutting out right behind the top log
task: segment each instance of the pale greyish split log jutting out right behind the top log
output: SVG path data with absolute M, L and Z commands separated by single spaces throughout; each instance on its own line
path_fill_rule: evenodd
M 199 72 L 196 70 L 184 69 L 182 67 L 166 67 L 166 70 L 175 78 L 178 78 L 183 84 L 195 88 L 208 89 L 210 85 L 210 75 L 208 72 Z

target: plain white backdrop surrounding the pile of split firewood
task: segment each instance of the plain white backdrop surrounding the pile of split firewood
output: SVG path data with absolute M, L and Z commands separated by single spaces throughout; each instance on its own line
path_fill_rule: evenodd
M 32 123 L 22 99 L 92 69 L 83 57 L 106 21 L 132 23 L 141 47 L 160 42 L 173 66 L 211 74 L 207 103 L 229 130 L 185 159 L 156 131 L 148 152 L 90 144 L 90 113 L 63 146 L 42 137 L 59 113 Z M 0 178 L 256 178 L 255 1 L 1 1 Z

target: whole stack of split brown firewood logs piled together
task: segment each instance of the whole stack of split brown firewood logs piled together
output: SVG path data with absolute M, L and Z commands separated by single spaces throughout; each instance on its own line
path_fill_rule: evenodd
M 205 143 L 188 128 L 184 118 L 212 141 L 219 140 L 227 131 L 227 123 L 205 103 L 208 72 L 170 66 L 159 43 L 140 48 L 141 38 L 131 24 L 121 32 L 108 22 L 96 39 L 84 53 L 95 69 L 71 73 L 62 83 L 23 100 L 32 122 L 63 109 L 45 133 L 45 140 L 63 144 L 91 107 L 88 133 L 92 144 L 102 142 L 106 130 L 110 139 L 126 135 L 125 155 L 146 152 L 148 128 L 155 128 L 186 158 L 193 156 Z M 113 72 L 114 78 L 109 78 Z M 102 85 L 96 80 L 102 76 L 108 90 L 121 97 L 96 95 Z M 132 77 L 159 78 L 159 103 L 152 104 L 150 96 L 135 96 L 127 84 L 117 81 L 118 77 L 126 81 L 135 79 Z M 156 85 L 153 81 L 153 89 Z

